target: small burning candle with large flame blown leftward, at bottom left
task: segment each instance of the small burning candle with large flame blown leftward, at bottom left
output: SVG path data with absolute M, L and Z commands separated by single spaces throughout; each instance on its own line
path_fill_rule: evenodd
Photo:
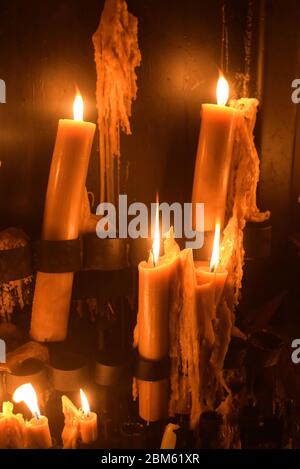
M 32 413 L 32 419 L 25 422 L 26 448 L 48 449 L 52 446 L 52 440 L 48 425 L 48 419 L 41 415 L 38 406 L 36 392 L 30 383 L 22 384 L 13 395 L 14 402 L 25 402 Z

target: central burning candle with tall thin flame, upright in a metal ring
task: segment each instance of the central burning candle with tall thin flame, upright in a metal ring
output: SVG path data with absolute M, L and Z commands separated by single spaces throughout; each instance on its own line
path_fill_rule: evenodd
M 171 253 L 159 257 L 159 208 L 152 254 L 139 265 L 138 350 L 141 358 L 159 362 L 169 354 L 169 300 L 171 283 L 176 275 L 179 257 Z M 138 379 L 139 413 L 147 422 L 155 422 L 168 413 L 169 379 Z

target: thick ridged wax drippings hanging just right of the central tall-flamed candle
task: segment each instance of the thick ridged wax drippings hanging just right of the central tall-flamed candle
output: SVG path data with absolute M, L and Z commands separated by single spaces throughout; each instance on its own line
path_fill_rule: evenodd
M 213 285 L 197 286 L 192 251 L 180 253 L 170 306 L 171 396 L 169 413 L 190 414 L 195 429 L 204 411 L 223 395 L 222 368 L 231 337 L 232 314 Z

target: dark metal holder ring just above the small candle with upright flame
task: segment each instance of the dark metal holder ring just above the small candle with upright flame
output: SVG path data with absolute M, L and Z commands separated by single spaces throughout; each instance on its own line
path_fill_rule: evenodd
M 88 381 L 85 359 L 76 353 L 63 352 L 50 361 L 50 379 L 56 391 L 76 392 Z

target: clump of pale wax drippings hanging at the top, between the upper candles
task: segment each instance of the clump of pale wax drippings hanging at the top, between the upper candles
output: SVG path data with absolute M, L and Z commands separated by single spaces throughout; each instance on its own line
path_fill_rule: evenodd
M 131 133 L 129 118 L 137 95 L 135 69 L 141 62 L 137 18 L 128 12 L 124 0 L 106 0 L 93 44 L 100 131 L 100 201 L 114 203 L 120 185 L 120 129 Z

